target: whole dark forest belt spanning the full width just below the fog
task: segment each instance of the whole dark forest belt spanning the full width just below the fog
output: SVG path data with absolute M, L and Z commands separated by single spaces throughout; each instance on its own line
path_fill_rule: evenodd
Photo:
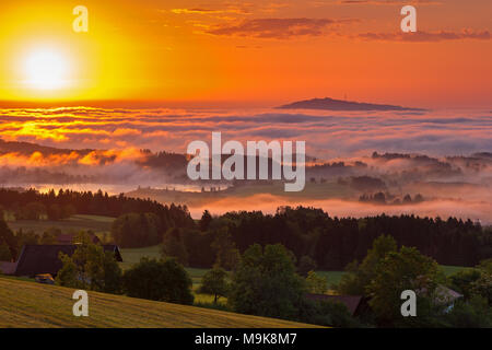
M 126 234 L 138 236 L 137 241 L 142 243 L 147 242 L 145 235 L 153 232 L 155 240 L 151 241 L 157 244 L 163 240 L 165 242 L 168 229 L 174 228 L 171 230 L 173 247 L 184 253 L 187 259 L 184 264 L 194 267 L 211 267 L 220 247 L 235 247 L 243 253 L 255 243 L 280 243 L 292 250 L 297 259 L 308 256 L 318 268 L 340 270 L 353 260 L 361 261 L 373 241 L 383 234 L 395 237 L 398 245 L 417 247 L 443 265 L 475 266 L 492 257 L 492 230 L 483 229 L 470 220 L 455 218 L 442 220 L 382 214 L 339 219 L 329 217 L 321 209 L 288 207 L 279 208 L 276 214 L 244 211 L 212 218 L 207 212 L 196 224 L 186 206 L 167 206 L 124 195 L 108 196 L 102 191 L 71 190 L 39 194 L 35 190 L 0 189 L 1 209 L 14 212 L 17 219 L 30 220 L 39 219 L 40 213 L 51 220 L 74 213 L 114 218 L 132 213 L 117 220 L 122 220 L 124 226 L 131 229 L 124 230 L 128 231 Z M 149 220 L 143 213 L 154 214 L 159 220 Z M 137 222 L 134 228 L 130 224 L 133 221 Z M 157 222 L 155 228 L 152 222 Z M 115 232 L 113 234 L 115 238 Z M 127 247 L 132 247 L 131 242 L 134 240 L 127 241 Z

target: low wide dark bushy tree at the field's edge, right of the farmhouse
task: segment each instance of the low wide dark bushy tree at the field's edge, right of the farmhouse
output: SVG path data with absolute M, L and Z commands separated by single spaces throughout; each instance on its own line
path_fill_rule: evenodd
M 125 271 L 124 285 L 127 294 L 168 303 L 194 303 L 192 281 L 176 259 L 142 258 Z

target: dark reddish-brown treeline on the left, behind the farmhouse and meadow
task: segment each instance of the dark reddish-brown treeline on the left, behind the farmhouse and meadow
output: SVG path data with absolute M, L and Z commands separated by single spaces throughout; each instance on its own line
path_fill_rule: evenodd
M 39 194 L 34 189 L 26 191 L 17 191 L 13 189 L 0 189 L 0 252 L 5 260 L 8 248 L 10 256 L 15 258 L 23 244 L 49 244 L 49 237 L 37 237 L 34 233 L 17 232 L 14 235 L 8 225 L 3 222 L 3 211 L 12 212 L 17 220 L 39 220 L 47 218 L 50 220 L 59 220 L 69 218 L 72 214 L 89 214 L 89 215 L 107 215 L 119 218 L 126 213 L 131 213 L 130 218 L 140 214 L 145 218 L 143 226 L 139 224 L 142 221 L 138 220 L 132 228 L 131 235 L 134 240 L 131 244 L 139 242 L 143 245 L 154 245 L 162 241 L 163 232 L 171 228 L 194 228 L 195 222 L 191 219 L 188 208 L 186 206 L 175 206 L 174 203 L 161 205 L 150 199 L 138 199 L 119 196 L 108 196 L 101 190 L 93 194 L 91 191 L 72 191 L 60 189 L 57 194 L 51 190 L 47 194 Z M 150 218 L 150 219 L 149 219 Z M 147 223 L 147 219 L 151 222 Z M 157 232 L 149 240 L 142 240 L 142 232 L 144 235 L 149 232 L 148 228 L 156 226 Z M 45 240 L 46 238 L 46 240 Z M 10 259 L 10 258 L 9 258 Z

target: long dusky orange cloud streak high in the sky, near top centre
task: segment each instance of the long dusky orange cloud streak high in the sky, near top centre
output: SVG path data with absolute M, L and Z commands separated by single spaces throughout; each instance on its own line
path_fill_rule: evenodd
M 331 19 L 255 19 L 239 24 L 216 25 L 207 33 L 211 35 L 245 36 L 285 39 L 295 36 L 320 36 L 330 26 L 348 24 L 358 20 Z

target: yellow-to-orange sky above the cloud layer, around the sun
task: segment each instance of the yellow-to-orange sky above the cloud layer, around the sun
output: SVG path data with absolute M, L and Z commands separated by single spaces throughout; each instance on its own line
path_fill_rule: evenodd
M 409 3 L 419 32 L 406 37 Z M 72 31 L 78 4 L 89 33 Z M 490 0 L 2 0 L 0 100 L 490 107 L 491 13 Z M 63 88 L 25 82 L 39 50 L 67 63 Z

